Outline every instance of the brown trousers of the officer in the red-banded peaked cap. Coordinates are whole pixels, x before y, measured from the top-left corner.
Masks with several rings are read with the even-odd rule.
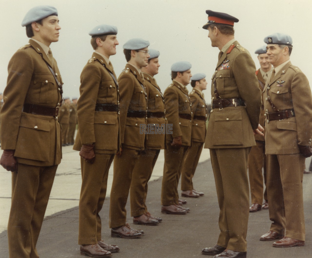
[[[248,148],[210,149],[220,207],[217,244],[233,251],[247,251],[249,184]]]

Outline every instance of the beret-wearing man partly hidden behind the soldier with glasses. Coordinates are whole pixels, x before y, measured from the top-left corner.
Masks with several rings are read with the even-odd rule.
[[[154,75],[158,74],[160,66],[158,62],[159,51],[149,49],[149,55],[148,65],[142,67],[141,71],[144,76],[144,85],[148,90],[147,124],[148,126],[153,125],[153,127],[152,132],[147,135],[147,149],[139,156],[132,172],[130,204],[134,224],[157,225],[162,221],[162,218],[154,217],[148,212],[145,200],[147,182],[152,175],[159,151],[165,146],[164,132],[159,133],[155,128],[156,124],[159,128],[165,125],[165,101],[154,78]]]

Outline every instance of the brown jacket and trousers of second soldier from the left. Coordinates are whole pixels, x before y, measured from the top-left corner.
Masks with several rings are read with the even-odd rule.
[[[73,149],[80,151],[82,144],[95,143],[95,161],[91,164],[80,158],[79,245],[97,244],[102,239],[99,212],[106,196],[110,165],[119,151],[118,110],[105,110],[107,105],[118,107],[119,89],[110,75],[111,72],[115,76],[111,63],[103,59],[94,52],[80,75],[79,130]],[[98,111],[101,105],[104,111]]]

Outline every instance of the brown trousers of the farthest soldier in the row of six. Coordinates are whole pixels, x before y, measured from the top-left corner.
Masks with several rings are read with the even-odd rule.
[[[183,161],[183,167],[181,172],[181,190],[193,190],[192,178],[195,174],[195,170],[202,153],[203,142],[192,141],[192,146],[188,148]]]

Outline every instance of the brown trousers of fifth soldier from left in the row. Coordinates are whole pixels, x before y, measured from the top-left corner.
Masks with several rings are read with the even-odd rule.
[[[162,205],[168,206],[179,203],[178,183],[187,150],[188,146],[181,146],[179,149],[176,149],[170,143],[167,143],[167,149],[164,151],[165,162],[161,188]]]

